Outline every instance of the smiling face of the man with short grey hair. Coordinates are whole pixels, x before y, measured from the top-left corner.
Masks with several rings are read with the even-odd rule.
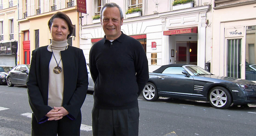
[[[120,17],[120,12],[117,7],[105,7],[102,12],[101,25],[106,35],[106,39],[115,40],[121,33],[123,18]]]

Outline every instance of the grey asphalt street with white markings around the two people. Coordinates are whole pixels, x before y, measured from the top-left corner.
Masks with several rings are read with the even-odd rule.
[[[255,136],[256,106],[215,109],[207,102],[138,98],[140,136]],[[93,95],[88,92],[81,108],[81,136],[91,136]],[[27,88],[0,86],[0,136],[31,135],[31,108]]]

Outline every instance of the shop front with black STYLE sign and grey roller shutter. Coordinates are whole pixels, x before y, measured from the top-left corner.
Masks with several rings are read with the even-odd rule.
[[[0,65],[17,65],[17,41],[0,43]]]

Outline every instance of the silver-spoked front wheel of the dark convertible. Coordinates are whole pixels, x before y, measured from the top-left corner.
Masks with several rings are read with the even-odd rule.
[[[226,88],[214,87],[209,93],[209,101],[214,108],[225,109],[232,104],[232,97]]]

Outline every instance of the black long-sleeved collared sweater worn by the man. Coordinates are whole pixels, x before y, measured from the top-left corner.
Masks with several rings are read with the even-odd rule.
[[[138,97],[149,78],[146,53],[138,40],[122,33],[111,43],[104,36],[91,47],[89,63],[95,107],[138,106]]]

